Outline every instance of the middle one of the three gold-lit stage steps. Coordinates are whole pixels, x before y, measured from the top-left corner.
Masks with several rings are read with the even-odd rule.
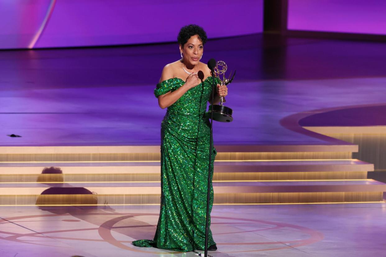
[[[45,167],[60,174],[41,174]],[[366,179],[359,160],[215,161],[213,181]],[[160,181],[160,162],[0,163],[0,182]]]

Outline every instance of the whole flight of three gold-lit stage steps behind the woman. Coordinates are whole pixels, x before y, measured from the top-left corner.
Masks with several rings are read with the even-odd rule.
[[[383,200],[386,185],[367,179],[374,165],[351,159],[351,145],[305,146],[303,152],[299,146],[288,152],[269,147],[262,152],[217,148],[226,152],[218,152],[215,161],[215,204]],[[60,147],[56,152],[35,148],[37,153],[20,149],[0,148],[0,205],[159,204],[159,146],[147,152],[130,147],[123,153],[122,148],[115,149],[120,153],[114,148],[72,148],[75,153]]]

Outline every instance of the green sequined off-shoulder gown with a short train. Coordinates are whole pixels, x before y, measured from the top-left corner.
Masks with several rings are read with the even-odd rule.
[[[184,83],[179,78],[162,81],[154,94],[158,97]],[[161,210],[156,234],[153,240],[137,240],[133,245],[180,252],[204,249],[210,147],[210,123],[204,114],[211,92],[212,77],[208,77],[168,107],[161,123]],[[213,148],[209,212],[216,153]],[[209,247],[215,242],[210,230],[208,235]]]

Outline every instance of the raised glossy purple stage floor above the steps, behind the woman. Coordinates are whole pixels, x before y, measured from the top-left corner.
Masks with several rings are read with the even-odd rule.
[[[215,144],[331,144],[281,120],[384,103],[385,53],[381,43],[261,34],[209,41],[203,62],[213,57],[237,70],[226,103],[234,122],[215,123]],[[0,146],[159,145],[166,110],[153,89],[178,58],[176,44],[3,51]]]

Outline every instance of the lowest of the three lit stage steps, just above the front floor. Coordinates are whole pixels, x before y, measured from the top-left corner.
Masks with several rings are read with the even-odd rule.
[[[160,186],[160,182],[9,183],[0,184],[0,201],[2,205],[159,204]],[[374,180],[213,182],[217,204],[375,202],[385,188]]]

